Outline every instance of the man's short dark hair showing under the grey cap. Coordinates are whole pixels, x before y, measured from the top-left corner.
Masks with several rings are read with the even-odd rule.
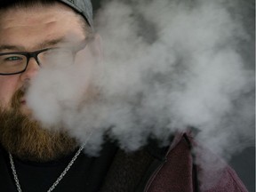
[[[60,3],[60,1],[57,0],[0,0],[0,12],[12,8],[28,8],[35,5],[51,6],[52,4],[56,4],[58,2]],[[72,10],[76,13],[76,16],[81,21],[82,27],[84,28],[84,32],[87,34],[87,36],[92,36],[92,27],[89,25],[88,21],[85,20],[80,13],[76,12],[74,9]]]

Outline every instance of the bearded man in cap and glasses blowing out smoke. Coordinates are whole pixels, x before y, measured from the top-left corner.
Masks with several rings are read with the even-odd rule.
[[[193,162],[188,133],[177,134],[171,146],[157,148],[153,143],[132,154],[106,142],[100,156],[91,157],[67,132],[49,131],[31,117],[25,95],[47,55],[65,49],[68,57],[76,58],[78,52],[88,52],[81,46],[88,39],[100,55],[89,0],[1,2],[0,190],[206,191],[197,180],[200,169]],[[207,191],[247,190],[227,166]]]

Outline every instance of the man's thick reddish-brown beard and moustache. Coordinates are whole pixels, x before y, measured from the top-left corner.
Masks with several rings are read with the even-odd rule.
[[[76,140],[67,132],[45,129],[20,111],[22,89],[15,92],[11,108],[0,109],[0,143],[20,159],[47,162],[68,155],[77,147]]]

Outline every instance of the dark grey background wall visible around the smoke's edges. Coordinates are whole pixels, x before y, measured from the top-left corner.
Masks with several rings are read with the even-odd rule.
[[[92,0],[94,12],[100,8],[101,0]],[[242,2],[243,1],[243,2]],[[250,31],[251,35],[255,36],[255,2],[254,0],[241,0],[243,4],[242,12],[244,14],[245,26]],[[255,63],[255,45],[254,41],[252,44],[248,44],[247,55],[248,60],[252,63],[254,68]],[[252,111],[253,112],[253,111]],[[255,124],[253,125],[255,127]],[[255,132],[254,132],[255,135]],[[249,192],[255,191],[255,146],[245,148],[241,153],[236,154],[232,157],[229,164],[236,170],[238,176],[243,180],[244,185]]]

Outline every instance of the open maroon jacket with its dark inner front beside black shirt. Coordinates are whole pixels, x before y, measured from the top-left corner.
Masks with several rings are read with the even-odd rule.
[[[193,156],[193,139],[179,133],[169,148],[156,144],[141,151],[118,152],[108,172],[102,192],[246,192],[247,189],[228,164],[215,157],[222,169],[204,170],[196,165],[200,154]],[[202,150],[205,153],[209,151]],[[201,151],[201,152],[202,152]],[[217,162],[218,161],[218,162]]]

